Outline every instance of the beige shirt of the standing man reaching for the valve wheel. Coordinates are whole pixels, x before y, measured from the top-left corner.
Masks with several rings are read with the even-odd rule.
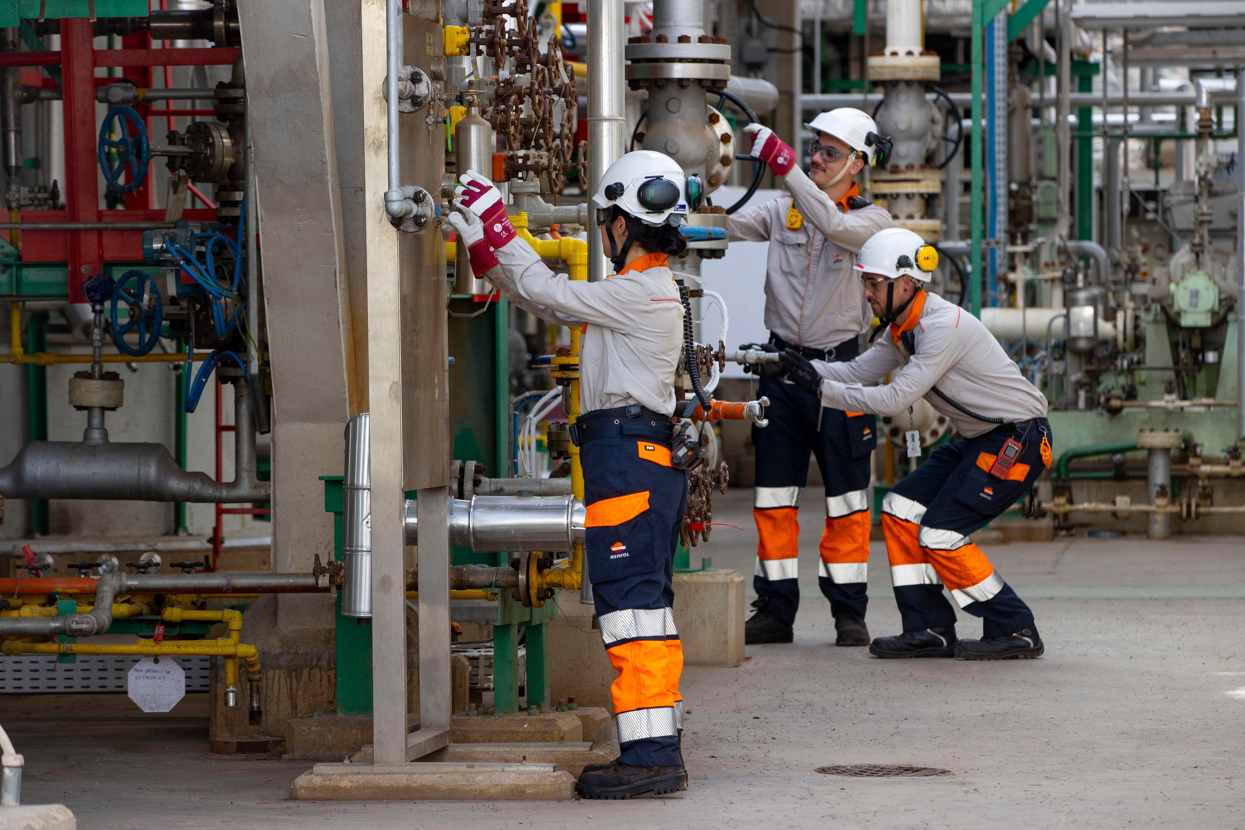
[[[731,239],[769,243],[766,327],[789,343],[830,348],[869,329],[873,312],[852,263],[865,240],[890,228],[890,214],[876,204],[850,209],[855,187],[830,202],[798,167],[786,182],[791,195],[731,217]],[[799,228],[788,226],[793,204]]]

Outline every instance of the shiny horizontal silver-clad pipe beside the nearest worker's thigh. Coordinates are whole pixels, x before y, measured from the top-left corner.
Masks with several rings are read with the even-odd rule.
[[[406,503],[406,544],[418,544],[416,500]],[[449,544],[477,553],[570,551],[584,541],[588,511],[569,495],[476,495],[449,499]]]

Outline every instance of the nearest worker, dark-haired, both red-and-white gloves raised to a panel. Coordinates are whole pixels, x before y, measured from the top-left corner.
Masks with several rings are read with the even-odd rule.
[[[593,600],[618,671],[611,692],[621,754],[585,768],[576,790],[627,798],[686,789],[679,740],[684,653],[671,604],[691,457],[671,418],[684,305],[666,265],[687,248],[680,233],[693,202],[686,178],[670,157],[649,151],[609,167],[593,203],[615,274],[600,282],[554,274],[515,239],[500,192],[473,170],[461,180],[456,204],[464,213],[448,220],[468,246],[473,273],[530,314],[584,327],[583,414],[570,432],[584,469]]]

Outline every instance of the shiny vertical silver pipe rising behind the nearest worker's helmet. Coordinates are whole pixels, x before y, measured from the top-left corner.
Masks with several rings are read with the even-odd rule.
[[[388,0],[393,2],[395,0]],[[622,77],[622,6],[618,0],[589,0],[588,19],[588,190],[626,148],[626,86]],[[588,281],[608,274],[601,235],[588,234]]]

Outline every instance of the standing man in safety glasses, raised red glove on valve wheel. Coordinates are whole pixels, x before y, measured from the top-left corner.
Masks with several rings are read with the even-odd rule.
[[[804,126],[815,136],[808,144],[808,174],[769,128],[745,127],[753,133],[752,154],[784,177],[791,195],[732,215],[731,239],[769,243],[764,315],[769,342],[761,347],[850,361],[873,317],[852,274],[852,256],[869,236],[890,226],[890,214],[859,195],[855,174],[865,164],[885,164],[889,142],[878,134],[873,118],[850,107],[823,112]],[[825,483],[818,584],[830,601],[835,643],[868,646],[868,490],[876,418],[824,408],[793,392],[777,376],[777,363],[754,371],[761,375],[758,392],[771,404],[769,426],[752,429],[757,612],[745,626],[745,641],[792,641],[799,607],[799,494],[812,450]]]

